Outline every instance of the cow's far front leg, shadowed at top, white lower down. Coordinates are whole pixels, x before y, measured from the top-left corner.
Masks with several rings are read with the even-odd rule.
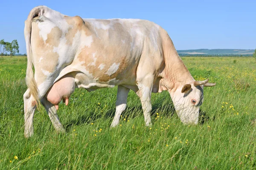
[[[117,89],[117,96],[116,96],[116,113],[111,124],[111,127],[116,127],[119,124],[119,119],[123,111],[125,111],[126,103],[127,103],[127,96],[130,89],[119,85]]]

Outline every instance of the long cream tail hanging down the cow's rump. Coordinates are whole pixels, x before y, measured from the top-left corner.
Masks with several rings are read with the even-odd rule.
[[[33,66],[34,66],[34,59],[32,56],[32,49],[31,49],[31,31],[32,31],[32,19],[35,16],[40,15],[40,12],[43,9],[43,6],[38,6],[33,8],[27,20],[25,21],[25,28],[24,28],[24,36],[26,40],[26,52],[27,52],[27,69],[26,69],[26,85],[29,88],[30,94],[34,97],[35,101],[38,103],[39,101],[39,94],[38,94],[38,88],[37,84],[35,82],[34,72],[33,72]]]

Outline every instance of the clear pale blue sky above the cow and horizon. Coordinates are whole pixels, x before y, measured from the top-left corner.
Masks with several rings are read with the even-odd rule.
[[[26,53],[24,21],[45,5],[82,18],[139,18],[162,26],[177,50],[256,48],[256,0],[0,0],[0,40]]]

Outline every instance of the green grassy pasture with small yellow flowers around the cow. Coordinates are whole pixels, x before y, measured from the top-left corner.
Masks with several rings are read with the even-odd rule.
[[[133,91],[120,125],[110,128],[117,88],[76,89],[57,134],[41,106],[34,136],[23,136],[26,57],[0,58],[0,169],[256,169],[256,62],[253,57],[182,57],[204,88],[200,125],[183,125],[169,94],[152,95],[144,126]]]

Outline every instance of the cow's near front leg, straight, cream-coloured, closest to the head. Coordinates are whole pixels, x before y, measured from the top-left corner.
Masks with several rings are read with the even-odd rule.
[[[137,82],[137,86],[139,90],[137,91],[137,95],[140,97],[144,120],[146,126],[151,126],[151,118],[150,113],[152,110],[151,106],[151,91],[153,87],[153,76],[145,76],[143,79]]]

